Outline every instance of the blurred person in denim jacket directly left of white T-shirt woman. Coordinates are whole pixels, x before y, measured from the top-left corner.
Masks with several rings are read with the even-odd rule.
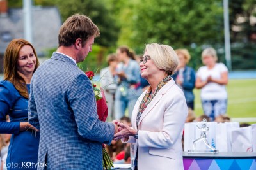
[[[188,108],[194,110],[195,95],[193,89],[195,88],[196,76],[194,69],[187,66],[191,56],[187,49],[177,49],[175,52],[179,57],[179,65],[172,77],[183,90]]]

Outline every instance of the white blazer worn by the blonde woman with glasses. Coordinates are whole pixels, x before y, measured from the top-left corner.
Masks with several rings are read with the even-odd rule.
[[[145,93],[132,112],[132,127],[136,130],[136,117]],[[172,78],[143,111],[138,139],[130,136],[128,141],[123,140],[135,143],[135,152],[138,148],[138,170],[184,169],[181,137],[187,115],[184,93]]]

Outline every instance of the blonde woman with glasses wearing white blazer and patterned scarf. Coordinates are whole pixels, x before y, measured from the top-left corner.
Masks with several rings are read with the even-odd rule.
[[[114,138],[135,143],[134,169],[184,169],[181,137],[188,107],[184,92],[172,78],[178,64],[171,46],[146,45],[140,67],[150,87],[134,106],[132,127],[116,122],[120,131]]]

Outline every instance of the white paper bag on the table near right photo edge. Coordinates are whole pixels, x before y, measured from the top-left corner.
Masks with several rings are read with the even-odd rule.
[[[253,152],[252,127],[241,127],[231,131],[232,152]]]

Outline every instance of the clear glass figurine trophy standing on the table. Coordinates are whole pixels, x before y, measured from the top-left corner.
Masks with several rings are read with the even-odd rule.
[[[202,122],[203,122],[202,127],[199,127],[198,125],[196,125],[196,128],[201,131],[200,137],[195,141],[193,141],[193,150],[188,150],[188,153],[218,153],[218,150],[216,150],[214,147],[209,145],[207,141],[206,134],[207,134],[207,131],[209,131],[209,127],[207,127],[206,125],[207,120],[204,118]],[[199,142],[202,143],[201,141],[204,142],[204,145],[206,146],[207,149],[196,150],[196,144],[198,145]]]

